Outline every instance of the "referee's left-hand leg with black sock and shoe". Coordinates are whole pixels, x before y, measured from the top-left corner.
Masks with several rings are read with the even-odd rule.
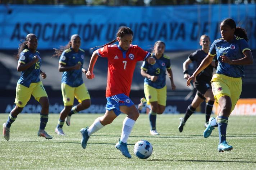
[[[200,106],[200,104],[204,101],[203,96],[197,91],[195,98],[193,99],[191,105],[188,106],[184,117],[179,118],[179,132],[183,131],[183,127],[185,123],[187,122],[188,118],[195,112],[196,108]]]

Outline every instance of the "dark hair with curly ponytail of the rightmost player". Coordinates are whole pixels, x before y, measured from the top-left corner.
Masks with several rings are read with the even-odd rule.
[[[228,26],[230,26],[231,29],[235,28],[234,34],[237,37],[241,37],[241,38],[245,39],[248,42],[249,39],[247,37],[246,30],[241,28],[241,27],[237,27],[236,22],[233,19],[227,18],[227,19],[223,20],[222,23],[227,24]]]

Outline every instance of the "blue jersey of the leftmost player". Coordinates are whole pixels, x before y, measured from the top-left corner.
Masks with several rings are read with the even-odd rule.
[[[31,83],[40,82],[39,77],[42,60],[40,58],[40,53],[38,51],[32,53],[30,50],[24,49],[19,55],[18,62],[22,64],[27,64],[31,62],[31,60],[33,60],[35,55],[39,57],[39,60],[28,69],[21,72],[18,84],[22,84],[23,86],[29,87]]]

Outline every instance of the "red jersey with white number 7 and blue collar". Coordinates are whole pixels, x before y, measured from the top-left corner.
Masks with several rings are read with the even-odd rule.
[[[97,53],[100,57],[108,58],[106,97],[121,93],[129,96],[136,63],[145,60],[150,53],[132,44],[127,51],[117,44],[105,45],[98,49]]]

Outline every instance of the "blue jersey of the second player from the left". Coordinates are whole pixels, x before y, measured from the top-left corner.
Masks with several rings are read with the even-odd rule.
[[[83,84],[82,79],[82,66],[84,62],[84,50],[79,49],[78,52],[74,52],[72,48],[64,50],[61,54],[59,63],[64,64],[65,66],[74,66],[77,63],[82,64],[79,70],[72,70],[63,72],[61,83],[68,84],[71,87],[78,87]]]

